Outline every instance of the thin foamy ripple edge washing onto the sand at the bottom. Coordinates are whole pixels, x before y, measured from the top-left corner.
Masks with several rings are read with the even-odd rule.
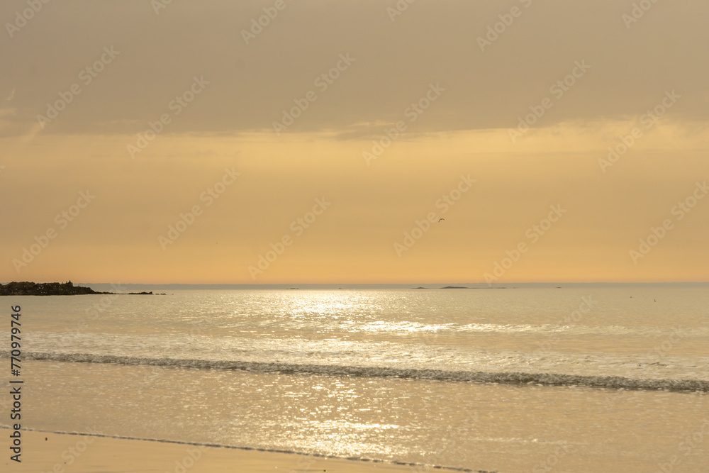
[[[9,429],[9,425],[0,424],[0,429]],[[201,442],[188,442],[185,440],[167,440],[158,438],[141,438],[141,437],[130,437],[127,435],[108,435],[104,433],[82,433],[82,432],[64,432],[62,430],[41,430],[35,428],[23,428],[22,430],[27,430],[28,432],[41,432],[41,433],[55,433],[57,435],[81,435],[86,437],[96,437],[96,438],[114,438],[117,440],[141,440],[143,442],[158,442],[158,443],[172,443],[177,445],[191,445],[194,447],[213,447],[213,448],[230,448],[233,450],[252,450],[255,452],[269,452],[269,453],[287,453],[290,455],[307,455],[308,457],[322,457],[322,458],[334,458],[337,460],[350,460],[355,462],[372,462],[372,463],[390,463],[396,465],[403,465],[408,467],[417,467],[420,471],[428,471],[428,469],[445,469],[454,472],[471,472],[471,473],[498,473],[497,470],[484,470],[484,469],[470,469],[462,467],[444,467],[442,465],[432,465],[424,463],[413,463],[413,462],[399,462],[396,460],[377,460],[374,458],[367,457],[333,457],[332,455],[323,455],[320,453],[307,453],[307,452],[296,452],[295,450],[279,450],[274,448],[259,448],[259,447],[239,447],[237,445],[224,445],[220,443],[201,443]]]

